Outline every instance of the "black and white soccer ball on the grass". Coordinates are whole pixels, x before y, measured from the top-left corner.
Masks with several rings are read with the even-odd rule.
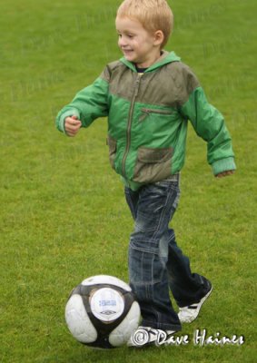
[[[132,289],[113,276],[84,280],[72,291],[65,320],[75,339],[93,348],[125,344],[138,328],[140,308]]]

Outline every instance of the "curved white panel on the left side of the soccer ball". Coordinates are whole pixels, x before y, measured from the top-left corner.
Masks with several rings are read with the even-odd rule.
[[[96,340],[97,331],[84,309],[83,299],[80,295],[74,294],[68,300],[65,308],[65,320],[70,332],[78,341],[93,343]]]

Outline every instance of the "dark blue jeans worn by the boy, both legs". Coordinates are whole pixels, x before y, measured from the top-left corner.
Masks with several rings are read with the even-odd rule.
[[[129,246],[130,284],[145,327],[181,329],[170,290],[179,307],[197,302],[206,294],[207,280],[192,273],[189,259],[169,228],[179,196],[179,175],[144,185],[138,191],[125,187],[134,220]]]

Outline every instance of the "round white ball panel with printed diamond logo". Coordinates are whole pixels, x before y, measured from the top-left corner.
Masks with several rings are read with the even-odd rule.
[[[111,288],[96,290],[91,296],[90,305],[95,318],[104,322],[111,322],[124,312],[123,296]]]

